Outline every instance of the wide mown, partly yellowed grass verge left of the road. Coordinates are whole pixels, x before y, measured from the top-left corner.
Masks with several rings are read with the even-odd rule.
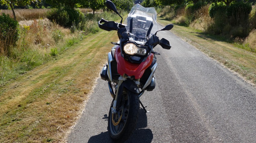
[[[63,142],[117,40],[116,31],[86,36],[0,87],[0,142]]]

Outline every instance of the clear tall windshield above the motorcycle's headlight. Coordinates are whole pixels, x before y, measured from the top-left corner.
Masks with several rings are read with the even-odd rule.
[[[130,33],[130,40],[144,45],[148,36],[158,30],[156,23],[157,13],[154,7],[145,8],[136,4],[125,19],[126,30]]]

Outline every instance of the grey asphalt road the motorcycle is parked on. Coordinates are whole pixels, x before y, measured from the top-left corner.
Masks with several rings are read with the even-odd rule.
[[[255,87],[170,31],[158,36],[169,40],[172,48],[155,48],[161,53],[157,85],[140,98],[150,113],[140,109],[127,142],[256,142]],[[107,132],[112,97],[107,82],[97,82],[69,143],[112,142]]]

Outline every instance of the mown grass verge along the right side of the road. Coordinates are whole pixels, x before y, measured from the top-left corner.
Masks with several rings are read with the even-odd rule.
[[[171,22],[158,17],[162,25]],[[175,23],[174,21],[172,21]],[[221,36],[203,34],[201,31],[191,27],[174,25],[171,30],[180,36],[184,41],[190,43],[208,57],[217,60],[232,72],[237,73],[248,83],[256,84],[256,53],[247,51],[237,44],[223,41]]]

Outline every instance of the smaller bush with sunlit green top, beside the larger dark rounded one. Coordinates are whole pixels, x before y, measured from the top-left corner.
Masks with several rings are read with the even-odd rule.
[[[226,4],[224,2],[212,3],[209,7],[209,15],[211,18],[214,18],[217,14],[225,15],[226,13]]]

